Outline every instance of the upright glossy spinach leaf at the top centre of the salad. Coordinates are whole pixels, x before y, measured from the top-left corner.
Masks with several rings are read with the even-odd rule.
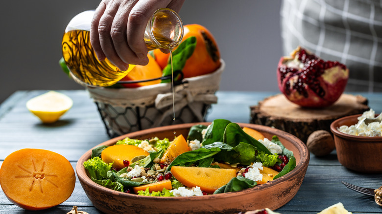
[[[215,142],[224,142],[223,135],[224,130],[231,121],[225,119],[216,119],[207,128],[206,135],[202,141],[203,145],[212,144]]]

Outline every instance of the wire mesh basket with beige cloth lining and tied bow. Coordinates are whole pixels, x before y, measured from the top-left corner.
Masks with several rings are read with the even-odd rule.
[[[204,122],[211,104],[217,103],[215,92],[224,68],[221,60],[221,66],[213,73],[184,78],[174,86],[174,94],[171,83],[118,89],[86,86],[86,89],[107,134],[116,137],[146,128]]]

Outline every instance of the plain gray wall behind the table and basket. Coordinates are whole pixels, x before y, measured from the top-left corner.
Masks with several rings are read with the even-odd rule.
[[[83,89],[61,70],[61,39],[76,14],[99,0],[1,2],[0,103],[17,90]],[[186,0],[179,15],[214,35],[226,63],[220,90],[279,91],[281,0]]]

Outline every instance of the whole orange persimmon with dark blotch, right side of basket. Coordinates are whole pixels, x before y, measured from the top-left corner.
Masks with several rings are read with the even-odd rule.
[[[196,37],[196,47],[182,70],[185,78],[212,73],[221,64],[215,38],[206,27],[200,24],[184,25],[182,42],[192,36]],[[154,50],[154,57],[162,69],[168,64],[169,54],[160,49]]]

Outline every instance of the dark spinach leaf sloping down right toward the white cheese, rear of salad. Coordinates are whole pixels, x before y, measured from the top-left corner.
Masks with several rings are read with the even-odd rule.
[[[264,151],[266,154],[272,154],[262,143],[251,137],[249,134],[245,133],[238,124],[228,124],[224,130],[223,143],[235,147],[240,142],[250,144],[256,147],[257,150]]]

